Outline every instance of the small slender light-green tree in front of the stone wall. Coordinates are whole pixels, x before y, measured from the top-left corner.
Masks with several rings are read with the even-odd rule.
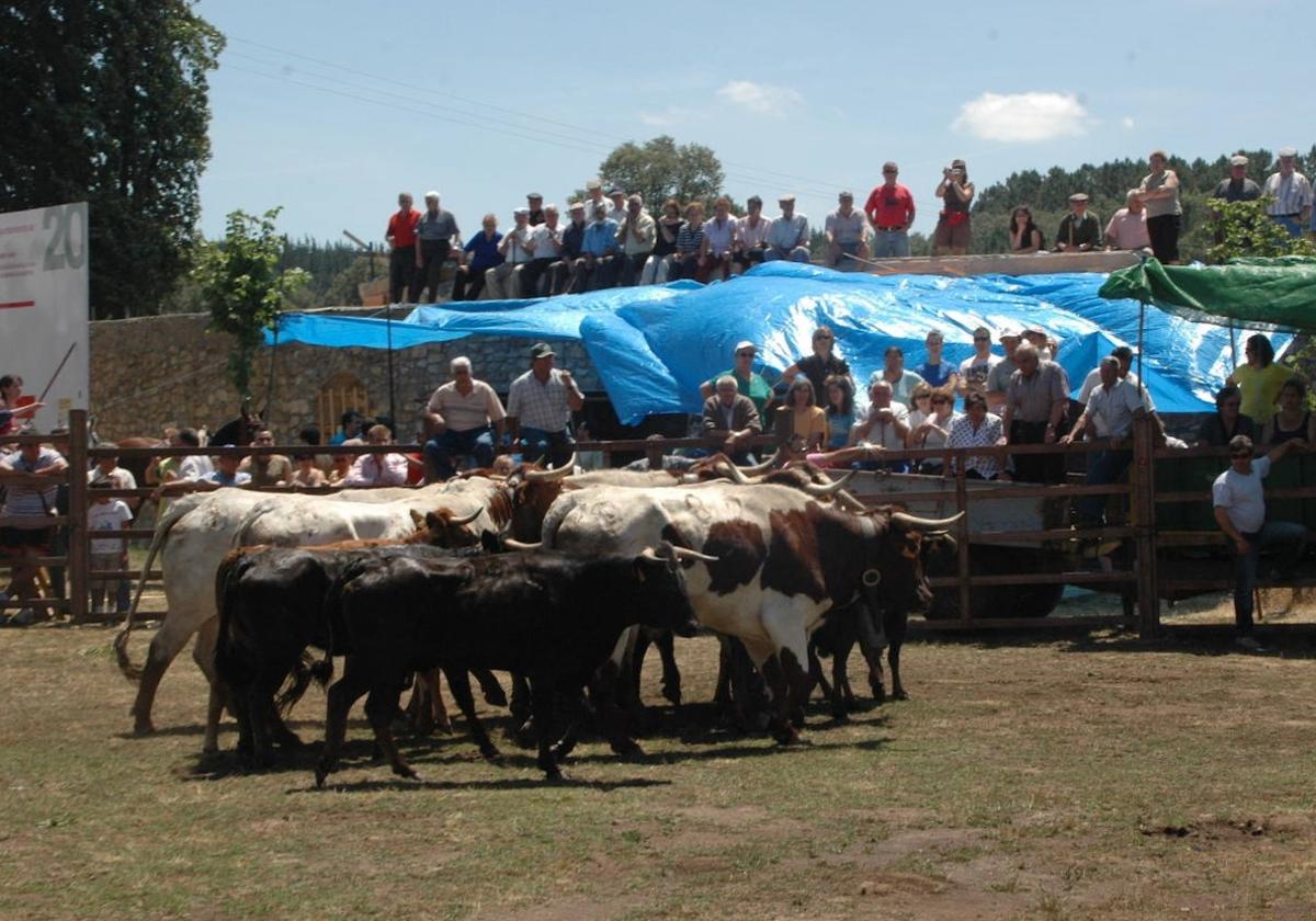
[[[243,399],[251,395],[251,364],[265,330],[274,326],[286,299],[308,280],[301,268],[279,270],[284,243],[274,229],[279,211],[261,217],[232,212],[224,242],[203,246],[193,272],[211,313],[211,330],[233,337],[229,379]]]

